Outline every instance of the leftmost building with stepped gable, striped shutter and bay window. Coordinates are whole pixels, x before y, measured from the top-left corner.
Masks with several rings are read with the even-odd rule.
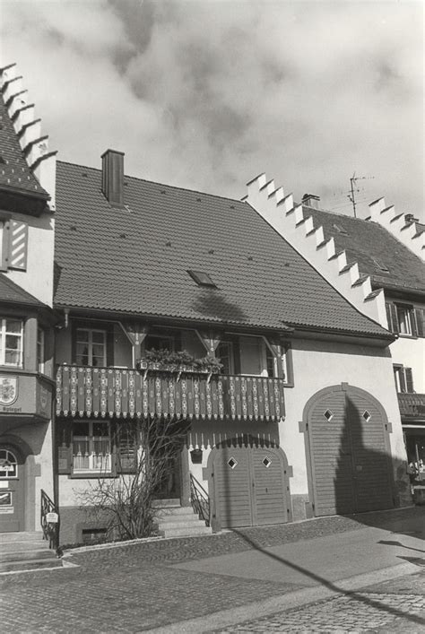
[[[0,531],[35,531],[53,497],[55,155],[14,66],[0,77]]]

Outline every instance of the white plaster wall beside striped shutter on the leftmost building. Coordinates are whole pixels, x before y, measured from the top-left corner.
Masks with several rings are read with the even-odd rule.
[[[49,214],[31,218],[22,213],[14,213],[13,220],[28,224],[27,270],[9,270],[7,277],[38,300],[52,306],[55,221]]]

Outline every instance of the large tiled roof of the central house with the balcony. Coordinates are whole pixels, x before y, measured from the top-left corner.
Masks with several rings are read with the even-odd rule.
[[[56,306],[265,328],[387,335],[246,203],[125,178],[126,208],[99,169],[57,162]],[[209,274],[198,286],[187,270]]]

